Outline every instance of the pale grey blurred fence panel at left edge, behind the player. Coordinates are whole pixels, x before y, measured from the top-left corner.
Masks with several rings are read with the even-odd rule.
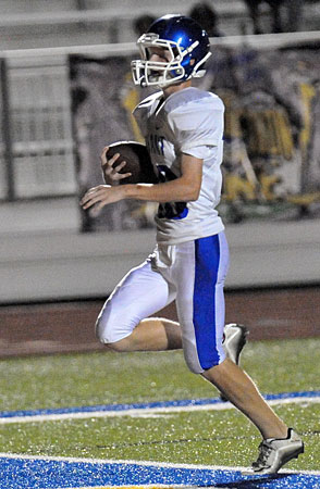
[[[3,71],[7,110],[1,133],[7,151],[1,164],[1,197],[14,200],[74,193],[65,60],[9,55],[2,61]]]

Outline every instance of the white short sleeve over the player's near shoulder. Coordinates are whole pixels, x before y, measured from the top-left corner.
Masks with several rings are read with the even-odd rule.
[[[193,101],[173,110],[168,120],[179,150],[187,153],[194,148],[217,147],[222,140],[223,114],[219,98]]]

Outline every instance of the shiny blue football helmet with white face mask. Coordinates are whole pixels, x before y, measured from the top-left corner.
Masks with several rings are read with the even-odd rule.
[[[211,55],[206,30],[184,15],[164,15],[155,21],[137,41],[140,60],[132,62],[135,85],[168,87],[205,75],[204,63]],[[150,48],[168,51],[168,62],[150,60]],[[200,70],[201,67],[201,70]]]

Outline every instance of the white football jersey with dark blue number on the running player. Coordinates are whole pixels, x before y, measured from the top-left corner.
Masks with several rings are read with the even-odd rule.
[[[224,229],[216,210],[222,185],[223,114],[223,102],[218,96],[194,87],[167,99],[162,91],[153,93],[134,110],[159,181],[181,176],[182,153],[204,160],[199,198],[194,202],[159,204],[159,243],[177,244]]]

